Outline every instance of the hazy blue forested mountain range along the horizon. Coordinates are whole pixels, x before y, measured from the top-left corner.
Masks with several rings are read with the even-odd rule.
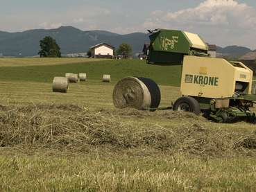
[[[114,47],[126,42],[133,46],[133,53],[142,51],[144,43],[149,42],[146,33],[130,33],[119,35],[105,30],[83,31],[72,26],[62,26],[56,29],[35,29],[24,32],[8,33],[0,31],[0,55],[5,56],[34,56],[39,51],[39,41],[45,36],[56,39],[62,54],[85,53],[90,46],[105,42]],[[239,57],[251,51],[243,46],[217,47],[222,55]]]

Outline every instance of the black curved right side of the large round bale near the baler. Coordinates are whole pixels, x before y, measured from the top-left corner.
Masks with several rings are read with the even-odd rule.
[[[146,87],[148,88],[148,91],[151,94],[151,108],[157,108],[160,105],[161,102],[161,91],[157,85],[157,83],[150,78],[138,78],[141,80]]]

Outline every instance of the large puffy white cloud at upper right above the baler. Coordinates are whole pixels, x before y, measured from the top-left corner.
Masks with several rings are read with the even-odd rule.
[[[196,8],[178,10],[177,12],[154,11],[151,15],[155,18],[145,22],[164,24],[168,26],[176,24],[186,26],[224,26],[226,28],[256,28],[256,10],[246,3],[238,3],[234,0],[207,0]],[[157,22],[159,23],[157,23]],[[171,23],[170,23],[171,22]]]

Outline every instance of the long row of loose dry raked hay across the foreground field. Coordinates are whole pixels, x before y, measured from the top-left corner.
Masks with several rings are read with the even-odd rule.
[[[187,123],[161,126],[135,122],[157,117]],[[201,117],[180,112],[89,111],[77,105],[0,106],[0,147],[75,152],[99,147],[211,157],[255,153],[255,132],[241,135],[208,125]]]

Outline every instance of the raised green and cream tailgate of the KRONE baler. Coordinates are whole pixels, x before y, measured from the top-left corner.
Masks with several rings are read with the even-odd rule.
[[[160,29],[150,35],[150,40],[150,64],[182,64],[184,55],[209,56],[207,44],[194,33]]]

